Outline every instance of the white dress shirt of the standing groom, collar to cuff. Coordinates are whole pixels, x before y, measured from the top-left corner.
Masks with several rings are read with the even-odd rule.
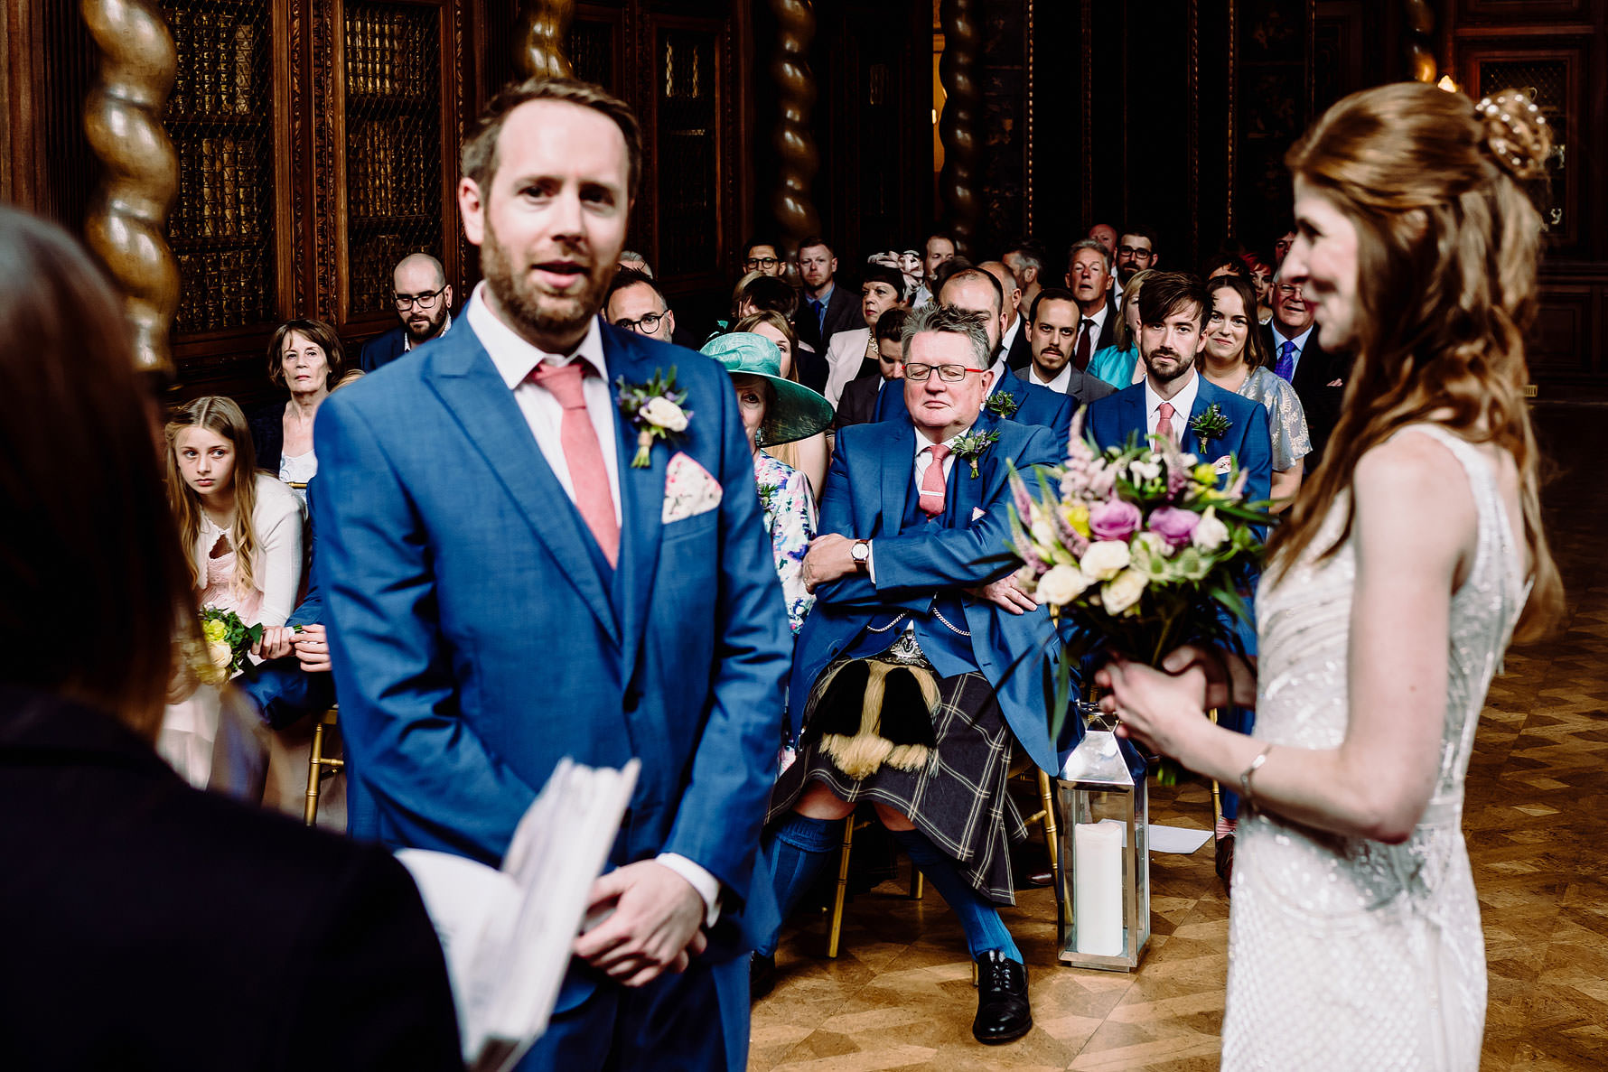
[[[558,477],[571,503],[576,501],[576,484],[569,476],[569,463],[564,461],[564,407],[558,403],[553,392],[531,381],[531,371],[540,362],[560,366],[569,362],[585,362],[597,371],[597,376],[584,376],[580,379],[580,391],[587,400],[587,416],[592,418],[598,445],[603,448],[603,468],[608,469],[608,490],[614,500],[614,521],[616,524],[624,524],[619,501],[614,392],[609,389],[608,365],[603,362],[603,331],[598,328],[598,318],[592,318],[587,334],[580,339],[580,346],[576,347],[574,354],[545,354],[521,339],[513,328],[492,312],[490,305],[486,304],[484,283],[474,288],[465,317],[468,317],[470,328],[490,355],[492,365],[497,366],[497,374],[513,391],[515,402],[519,403],[519,411],[524,413],[526,424],[531,426],[531,434],[535,437],[535,445],[542,452],[542,458],[547,460],[548,468]],[[659,853],[654,861],[675,871],[698,890],[698,897],[704,903],[704,926],[714,926],[714,921],[720,918],[720,881],[709,874],[708,868],[672,852]]]

